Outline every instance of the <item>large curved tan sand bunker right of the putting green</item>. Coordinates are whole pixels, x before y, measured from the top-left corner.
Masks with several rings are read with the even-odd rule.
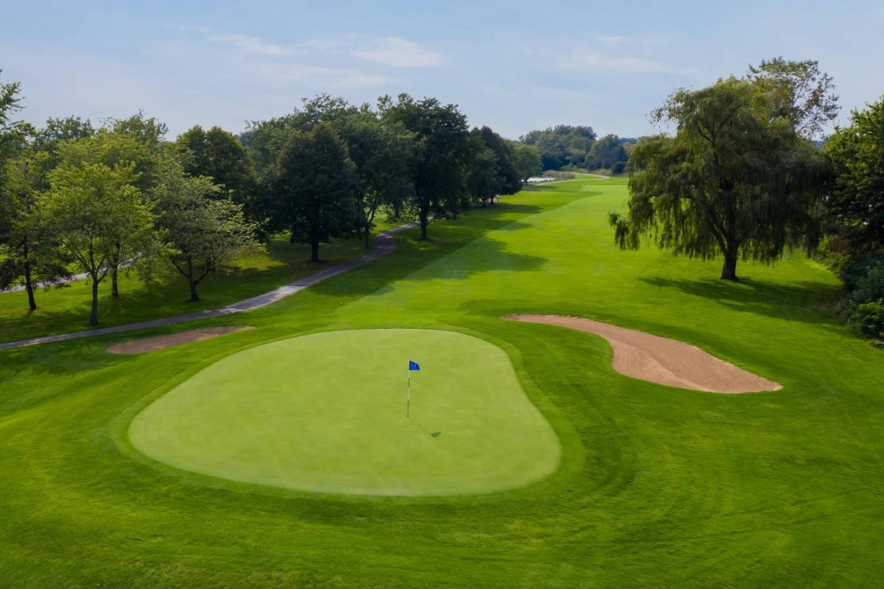
[[[757,393],[782,388],[773,380],[737,368],[696,346],[659,335],[583,317],[509,315],[505,318],[560,325],[600,335],[613,348],[613,369],[635,379],[709,393]]]

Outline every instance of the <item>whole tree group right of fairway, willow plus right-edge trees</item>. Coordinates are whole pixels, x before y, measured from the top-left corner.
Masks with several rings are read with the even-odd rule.
[[[804,249],[843,279],[851,328],[884,346],[884,102],[819,142],[837,101],[818,62],[783,57],[677,90],[652,112],[674,133],[631,150],[627,211],[610,215],[614,241],[720,256],[728,280],[740,260],[772,264]]]

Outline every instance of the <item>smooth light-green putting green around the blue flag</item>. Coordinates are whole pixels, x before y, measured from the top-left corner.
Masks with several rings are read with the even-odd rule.
[[[406,417],[408,360],[411,377]],[[141,411],[134,447],[179,469],[323,493],[453,495],[556,470],[507,354],[462,333],[316,333],[227,356]]]

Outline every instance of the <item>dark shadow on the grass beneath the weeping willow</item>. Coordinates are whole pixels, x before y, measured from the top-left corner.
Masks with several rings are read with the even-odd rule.
[[[840,330],[832,310],[839,288],[826,282],[801,280],[789,284],[743,278],[719,279],[640,278],[652,287],[674,288],[686,295],[713,299],[728,309],[790,321],[831,324]]]

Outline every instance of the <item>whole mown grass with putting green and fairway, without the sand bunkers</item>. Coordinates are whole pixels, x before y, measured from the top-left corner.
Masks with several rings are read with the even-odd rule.
[[[0,351],[0,581],[868,586],[884,371],[827,310],[837,280],[797,253],[729,283],[618,251],[626,197],[530,187],[262,309],[132,336],[254,327],[210,340]],[[782,389],[633,379],[604,338],[516,313],[683,341]]]

